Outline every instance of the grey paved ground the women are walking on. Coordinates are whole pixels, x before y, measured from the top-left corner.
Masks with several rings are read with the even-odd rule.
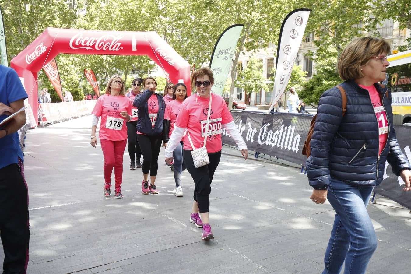
[[[194,183],[185,171],[184,197],[174,196],[164,149],[158,195],[141,193],[141,169],[128,169],[126,148],[124,198],[103,196],[102,150],[90,146],[90,123],[82,117],[27,134],[28,273],[321,273],[334,212],[309,200],[299,169],[253,155],[245,161],[224,146],[210,196],[215,239],[205,242],[189,223]],[[379,245],[367,273],[410,273],[409,210],[385,198],[368,210]]]

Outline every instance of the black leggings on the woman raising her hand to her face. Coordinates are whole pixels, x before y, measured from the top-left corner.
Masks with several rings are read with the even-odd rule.
[[[157,176],[158,169],[158,154],[160,153],[162,137],[147,136],[144,134],[137,134],[137,141],[139,142],[141,152],[143,152],[143,173],[150,173],[150,176]]]

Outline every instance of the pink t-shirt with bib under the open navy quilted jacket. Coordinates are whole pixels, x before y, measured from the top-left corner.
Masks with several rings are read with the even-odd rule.
[[[372,106],[374,107],[374,112],[377,117],[377,122],[378,122],[378,134],[379,134],[379,150],[378,150],[378,156],[381,154],[383,151],[387,139],[388,139],[388,131],[389,125],[388,125],[388,117],[385,111],[385,108],[382,104],[380,95],[378,91],[376,90],[374,85],[370,86],[365,86],[365,85],[359,85],[362,88],[365,88],[369,92],[369,97],[371,97],[371,102]]]

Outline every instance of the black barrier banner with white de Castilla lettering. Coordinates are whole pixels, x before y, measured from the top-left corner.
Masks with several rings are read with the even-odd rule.
[[[251,111],[232,111],[234,122],[249,150],[278,157],[305,166],[307,157],[301,154],[302,147],[312,115],[278,113],[264,115]],[[397,140],[402,151],[411,160],[411,127],[394,126]],[[236,145],[224,130],[222,142]],[[404,182],[401,177],[393,174],[386,162],[386,173],[383,182],[374,189],[374,192],[411,209],[411,191],[402,190]]]

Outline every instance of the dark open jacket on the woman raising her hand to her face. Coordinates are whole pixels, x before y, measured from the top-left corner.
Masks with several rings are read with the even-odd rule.
[[[166,109],[166,103],[164,103],[163,97],[155,93],[157,96],[159,108],[157,113],[156,122],[154,128],[151,125],[150,116],[148,115],[148,104],[147,101],[151,97],[152,92],[150,90],[144,90],[136,96],[133,102],[133,106],[138,108],[137,115],[139,119],[137,120],[136,128],[139,132],[147,134],[148,136],[158,136],[163,133],[163,121],[164,121],[164,111]]]

